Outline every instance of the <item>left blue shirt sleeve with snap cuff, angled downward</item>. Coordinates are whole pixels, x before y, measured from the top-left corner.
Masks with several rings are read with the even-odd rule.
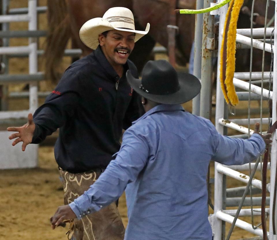
[[[69,204],[77,218],[98,211],[117,200],[126,185],[134,181],[144,168],[148,156],[149,147],[145,136],[134,128],[128,129],[123,135],[115,160],[110,162],[89,190]]]

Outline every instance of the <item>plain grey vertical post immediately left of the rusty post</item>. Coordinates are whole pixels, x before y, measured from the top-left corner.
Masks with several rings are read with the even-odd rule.
[[[204,7],[203,0],[196,0],[196,9]],[[193,75],[201,80],[203,14],[195,14]],[[200,115],[200,93],[192,100],[192,114]]]

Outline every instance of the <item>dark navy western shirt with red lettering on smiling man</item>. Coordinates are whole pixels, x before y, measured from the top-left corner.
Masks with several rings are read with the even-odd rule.
[[[55,159],[63,170],[80,173],[106,167],[120,148],[122,128],[143,114],[138,94],[127,83],[128,69],[138,78],[130,60],[119,78],[100,47],[70,65],[34,113],[32,143],[59,128]]]

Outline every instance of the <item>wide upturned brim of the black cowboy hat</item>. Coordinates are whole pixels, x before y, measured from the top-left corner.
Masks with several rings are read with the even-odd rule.
[[[201,90],[201,83],[198,78],[189,73],[178,73],[179,91],[168,95],[151,94],[140,89],[141,80],[134,78],[130,70],[126,77],[130,86],[141,96],[162,104],[181,104],[194,98]]]

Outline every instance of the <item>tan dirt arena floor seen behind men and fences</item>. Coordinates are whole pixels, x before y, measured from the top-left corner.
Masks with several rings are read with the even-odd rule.
[[[39,1],[39,4],[46,5],[46,0]],[[27,7],[27,0],[10,0],[10,8]],[[10,29],[23,30],[27,29],[26,23],[11,23]],[[39,16],[39,29],[47,29],[46,14]],[[40,48],[43,48],[44,39],[39,42]],[[11,39],[11,46],[27,45],[27,39]],[[164,56],[156,56],[162,58]],[[70,63],[69,58],[65,58],[63,66]],[[28,73],[27,58],[10,59],[10,73]],[[39,59],[39,71],[43,71],[43,59]],[[9,86],[9,91],[22,91],[25,84]],[[40,91],[50,91],[51,87],[42,81],[39,84]],[[40,99],[42,104],[44,99]],[[267,108],[267,103],[263,103]],[[191,102],[184,105],[186,110],[191,112]],[[258,108],[259,104],[253,103],[252,108]],[[26,99],[9,100],[9,110],[22,110],[28,108]],[[237,112],[247,108],[247,103],[242,102],[237,107]],[[213,112],[215,108],[213,107]],[[247,117],[247,116],[244,116]],[[251,116],[259,117],[259,115]],[[265,117],[267,115],[265,114]],[[239,134],[239,133],[236,133]],[[8,141],[8,139],[7,139]],[[22,153],[24,154],[24,153]],[[213,177],[213,163],[211,164],[211,177]],[[248,175],[248,173],[246,172]],[[57,164],[54,159],[53,146],[40,146],[38,154],[38,167],[35,169],[14,169],[0,170],[0,240],[45,240],[45,239],[67,239],[66,228],[58,227],[52,230],[50,227],[50,217],[55,213],[57,207],[63,204],[63,189],[58,178]],[[256,178],[260,179],[260,173],[257,172]],[[227,179],[227,186],[237,187],[242,184],[238,181]],[[213,188],[213,185],[212,185]],[[213,196],[213,192],[212,192]],[[258,195],[257,195],[258,196]],[[212,197],[212,202],[214,202]],[[125,196],[119,200],[119,211],[125,226],[127,226],[127,208]],[[209,208],[212,213],[212,209]],[[250,218],[241,218],[250,221]],[[259,217],[255,217],[255,224],[259,223]],[[228,230],[230,224],[227,224]],[[226,232],[227,232],[226,230]],[[239,228],[235,228],[231,239],[242,239],[254,237]],[[146,240],[146,239],[145,239]]]

